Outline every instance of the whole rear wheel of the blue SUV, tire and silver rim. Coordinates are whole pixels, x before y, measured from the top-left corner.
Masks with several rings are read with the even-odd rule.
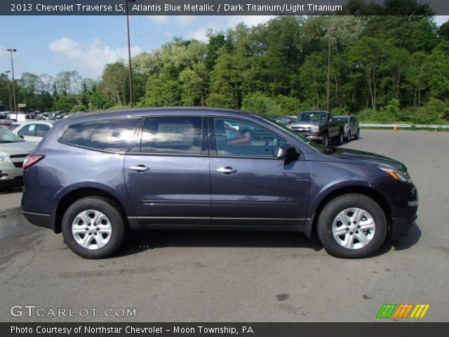
[[[103,197],[74,202],[62,218],[65,243],[82,258],[107,258],[119,249],[125,220],[119,207]]]

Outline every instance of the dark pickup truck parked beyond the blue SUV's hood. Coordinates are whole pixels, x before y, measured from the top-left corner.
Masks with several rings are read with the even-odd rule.
[[[288,127],[324,146],[329,145],[330,139],[335,139],[337,145],[343,143],[344,122],[335,121],[328,111],[301,112]]]

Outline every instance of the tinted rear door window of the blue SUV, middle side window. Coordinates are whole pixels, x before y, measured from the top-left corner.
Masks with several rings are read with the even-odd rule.
[[[150,117],[133,152],[201,154],[202,117]]]

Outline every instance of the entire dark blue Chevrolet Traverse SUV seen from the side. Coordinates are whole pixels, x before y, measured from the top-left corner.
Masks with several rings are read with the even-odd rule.
[[[253,126],[264,138],[239,131]],[[406,166],[323,147],[234,110],[147,108],[71,117],[24,161],[22,211],[83,258],[126,230],[316,230],[333,256],[363,258],[416,218]]]

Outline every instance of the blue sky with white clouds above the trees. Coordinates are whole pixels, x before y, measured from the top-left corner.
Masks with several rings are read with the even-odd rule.
[[[272,16],[130,16],[131,55],[159,48],[173,37],[206,41],[208,29],[225,31],[239,22],[257,25]],[[449,15],[436,16],[438,25]],[[128,58],[125,16],[3,16],[0,71],[11,70],[7,48],[16,48],[15,77],[23,72],[55,75],[77,70],[95,79],[107,63]]]

